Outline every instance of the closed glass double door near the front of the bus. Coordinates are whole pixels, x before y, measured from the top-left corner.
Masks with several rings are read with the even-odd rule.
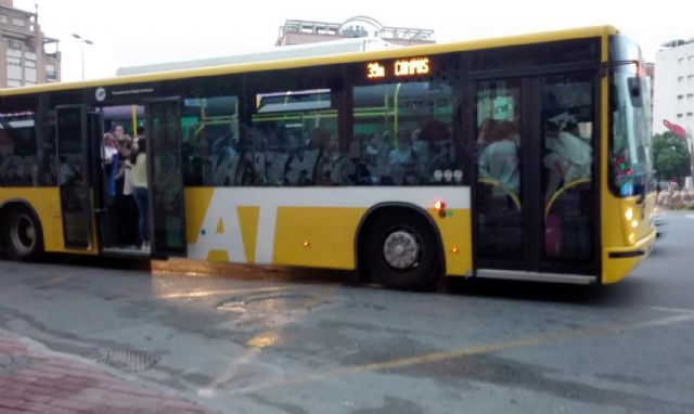
[[[475,83],[477,269],[595,273],[596,85],[592,73]]]

